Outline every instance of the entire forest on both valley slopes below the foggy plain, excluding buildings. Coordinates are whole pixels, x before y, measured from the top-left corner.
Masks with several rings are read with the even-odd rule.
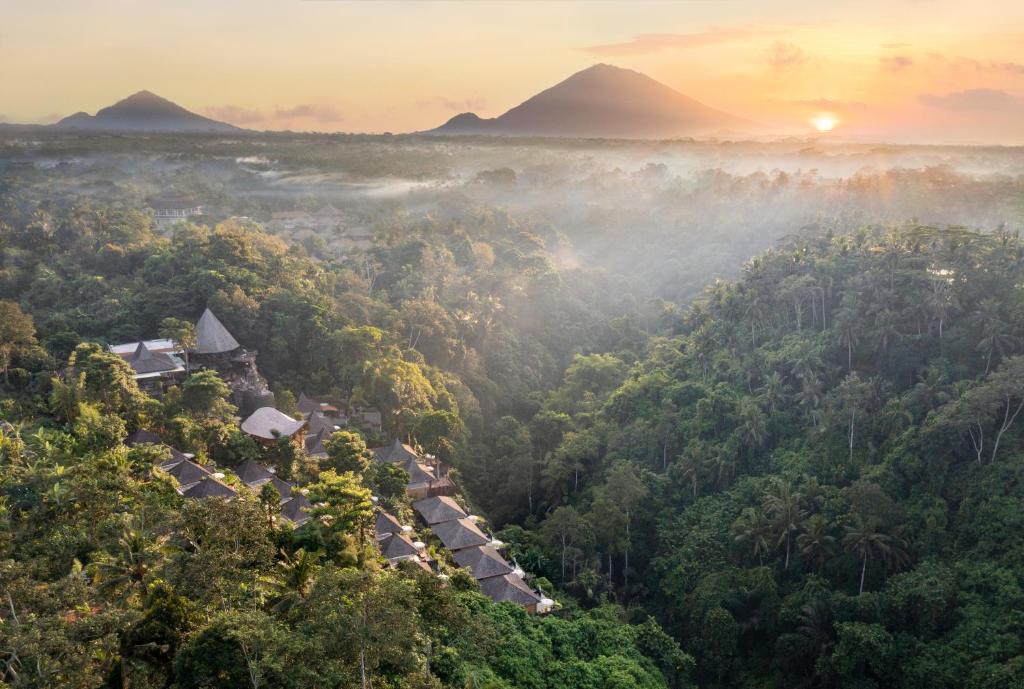
[[[557,267],[563,235],[493,209],[381,227],[343,261],[243,221],[158,233],[122,208],[0,209],[11,686],[1019,682],[1015,235],[805,231],[682,308]],[[386,476],[257,446],[216,377],[154,399],[91,344],[205,307],[259,350],[285,411],[298,391],[373,404],[383,432],[354,446],[402,437],[453,465],[561,611],[381,569],[353,515]],[[166,458],[126,446],[143,428],[332,488],[337,518],[292,529],[244,490],[183,501],[155,479]]]

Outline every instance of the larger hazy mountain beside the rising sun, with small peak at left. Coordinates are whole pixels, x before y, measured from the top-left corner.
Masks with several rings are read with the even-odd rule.
[[[673,138],[736,131],[750,124],[639,72],[595,64],[497,118],[462,113],[425,133]]]

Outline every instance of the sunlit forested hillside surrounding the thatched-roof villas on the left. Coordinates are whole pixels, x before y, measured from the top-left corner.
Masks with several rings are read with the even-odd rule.
[[[0,212],[0,686],[686,682],[691,659],[639,611],[579,609],[531,577],[563,604],[530,616],[492,603],[433,545],[449,578],[392,568],[368,539],[371,491],[413,519],[408,475],[368,445],[404,438],[461,466],[498,410],[557,380],[567,343],[616,341],[585,298],[597,291],[563,283],[543,238],[500,214],[472,234],[425,221],[329,263],[246,223],[161,234],[138,212],[14,195]],[[260,444],[212,371],[158,399],[102,346],[206,306],[258,349],[281,408],[297,415],[300,391],[373,404],[383,429],[339,433],[344,457],[333,442],[322,459],[288,438]],[[563,329],[543,332],[537,314]],[[237,497],[183,498],[161,469],[174,454],[130,445],[137,431],[213,465]],[[302,486],[313,518],[293,528],[269,484],[241,485],[246,461]]]

